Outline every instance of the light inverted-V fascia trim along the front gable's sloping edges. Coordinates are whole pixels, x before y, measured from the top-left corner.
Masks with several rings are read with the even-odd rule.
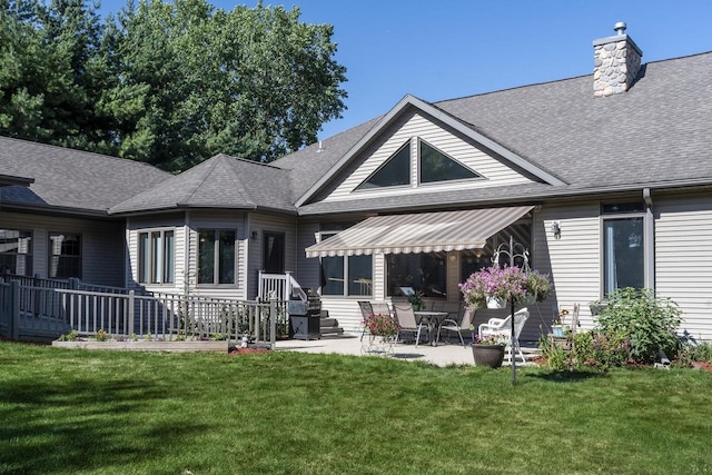
[[[304,205],[309,198],[312,198],[319,189],[322,189],[324,185],[326,185],[336,174],[338,174],[344,168],[344,166],[346,166],[346,164],[348,164],[352,157],[354,157],[357,152],[359,152],[368,144],[370,144],[370,141],[386,127],[388,127],[388,125],[408,106],[413,106],[422,110],[423,112],[433,116],[437,120],[441,120],[442,122],[448,125],[466,137],[469,137],[476,142],[487,147],[490,150],[498,154],[515,166],[528,171],[530,174],[546,181],[547,184],[553,186],[566,185],[555,176],[522,159],[520,156],[513,154],[511,150],[507,150],[505,147],[502,147],[500,144],[496,144],[487,137],[476,132],[471,127],[465,126],[463,122],[455,119],[449,113],[434,107],[431,103],[425,102],[422,99],[416,98],[415,96],[406,95],[393,109],[390,109],[385,116],[383,116],[383,118],[365,136],[363,136],[350,149],[348,149],[344,157],[342,157],[327,174],[319,178],[299,199],[297,199],[295,206],[299,207]]]

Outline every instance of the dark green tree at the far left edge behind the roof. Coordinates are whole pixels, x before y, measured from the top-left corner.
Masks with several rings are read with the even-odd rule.
[[[93,103],[108,72],[102,26],[83,0],[0,0],[0,132],[103,151]]]

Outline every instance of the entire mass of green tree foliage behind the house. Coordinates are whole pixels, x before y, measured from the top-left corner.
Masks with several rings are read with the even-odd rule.
[[[87,0],[0,0],[0,133],[184,170],[270,161],[339,117],[345,68],[298,8],[139,0],[103,23]]]

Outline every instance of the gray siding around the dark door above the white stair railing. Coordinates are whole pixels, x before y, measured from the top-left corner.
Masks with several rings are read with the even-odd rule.
[[[249,231],[256,231],[257,238],[249,240],[247,267],[247,298],[257,296],[258,275],[263,269],[264,234],[284,232],[285,235],[285,271],[297,269],[297,220],[294,217],[250,214]],[[304,249],[301,249],[304,251]]]

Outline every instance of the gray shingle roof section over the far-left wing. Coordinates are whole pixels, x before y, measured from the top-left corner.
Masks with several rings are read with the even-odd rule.
[[[0,174],[34,179],[0,188],[3,206],[106,212],[171,175],[132,160],[0,137]]]

